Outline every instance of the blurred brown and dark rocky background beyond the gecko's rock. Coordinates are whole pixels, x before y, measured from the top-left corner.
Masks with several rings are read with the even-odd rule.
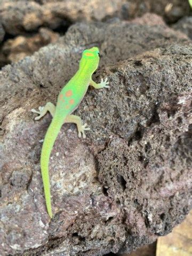
[[[158,15],[146,16],[151,23],[165,21],[192,37],[187,0],[0,0],[0,68],[54,43],[76,22],[131,21],[146,13]]]

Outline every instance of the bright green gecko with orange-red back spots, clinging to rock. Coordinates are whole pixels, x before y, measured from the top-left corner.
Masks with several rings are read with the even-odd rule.
[[[39,114],[39,116],[35,117],[35,120],[39,120],[47,113],[47,111],[49,111],[53,117],[45,134],[40,160],[46,208],[50,218],[53,217],[51,210],[49,179],[49,161],[51,151],[61,126],[64,123],[75,123],[77,125],[79,138],[81,138],[81,135],[85,138],[84,131],[90,130],[90,128],[87,127],[87,124],[82,125],[82,119],[79,116],[71,115],[71,113],[73,113],[79,103],[83,100],[89,85],[93,86],[95,89],[101,89],[103,87],[109,88],[107,78],[105,81],[101,79],[101,83],[99,84],[92,80],[92,75],[98,66],[98,47],[92,47],[91,49],[84,50],[79,62],[79,69],[59,93],[57,105],[54,106],[53,103],[47,102],[44,107],[39,107],[39,111],[31,109],[32,112]]]

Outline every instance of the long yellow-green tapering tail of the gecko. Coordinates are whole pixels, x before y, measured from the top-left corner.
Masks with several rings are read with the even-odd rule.
[[[52,122],[45,134],[42,153],[41,153],[41,173],[43,179],[43,187],[45,193],[45,202],[47,207],[47,212],[52,218],[51,210],[51,193],[50,193],[50,179],[49,179],[49,160],[51,155],[51,150],[53,148],[54,142],[59,134],[63,122],[57,116],[54,116]]]

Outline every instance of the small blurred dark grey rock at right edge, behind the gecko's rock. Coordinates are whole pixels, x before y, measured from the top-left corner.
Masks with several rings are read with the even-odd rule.
[[[192,39],[192,17],[182,18],[172,27],[176,30],[182,31],[182,33],[185,33],[189,38]]]

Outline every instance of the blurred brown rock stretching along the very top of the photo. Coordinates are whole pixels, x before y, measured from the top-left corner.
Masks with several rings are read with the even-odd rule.
[[[41,26],[55,29],[67,27],[76,21],[103,21],[111,17],[132,19],[146,12],[154,12],[169,22],[175,22],[188,15],[190,7],[187,1],[167,0],[63,0],[50,1],[13,1],[1,0],[1,21],[7,33],[26,34]]]

